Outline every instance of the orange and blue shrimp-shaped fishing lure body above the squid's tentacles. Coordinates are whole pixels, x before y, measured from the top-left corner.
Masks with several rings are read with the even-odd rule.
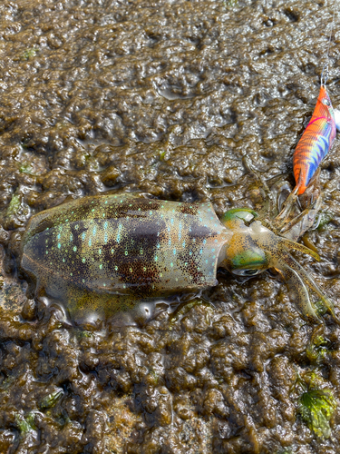
[[[297,194],[305,192],[318,165],[331,149],[339,127],[339,114],[333,109],[325,85],[321,85],[316,108],[293,155]]]

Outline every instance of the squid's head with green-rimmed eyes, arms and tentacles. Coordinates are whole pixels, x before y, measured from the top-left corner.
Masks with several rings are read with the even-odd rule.
[[[290,297],[306,321],[322,322],[310,301],[308,290],[315,292],[335,317],[332,301],[320,291],[309,273],[289,253],[294,249],[319,261],[316,252],[272,232],[253,210],[229,210],[221,222],[232,232],[232,236],[221,251],[219,266],[238,276],[254,276],[269,268],[276,268],[284,275]]]

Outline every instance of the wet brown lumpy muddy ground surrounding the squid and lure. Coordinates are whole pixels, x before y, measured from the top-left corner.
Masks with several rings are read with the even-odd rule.
[[[143,327],[74,327],[25,295],[34,212],[102,192],[251,207],[287,173],[313,112],[335,8],[328,89],[340,104],[336,2],[3,0],[0,5],[0,452],[333,454],[301,418],[306,389],[340,397],[340,329],[296,312],[279,277],[219,285]],[[340,145],[299,256],[340,299]],[[325,432],[324,432],[325,433]]]

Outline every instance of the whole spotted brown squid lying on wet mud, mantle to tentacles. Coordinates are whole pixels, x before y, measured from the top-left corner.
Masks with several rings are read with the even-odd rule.
[[[35,295],[63,301],[72,318],[107,317],[141,299],[211,287],[218,267],[240,276],[277,268],[306,320],[320,322],[307,288],[334,313],[289,254],[295,249],[318,260],[316,252],[278,236],[250,209],[229,210],[219,220],[209,202],[83,197],[35,214],[21,249]]]

